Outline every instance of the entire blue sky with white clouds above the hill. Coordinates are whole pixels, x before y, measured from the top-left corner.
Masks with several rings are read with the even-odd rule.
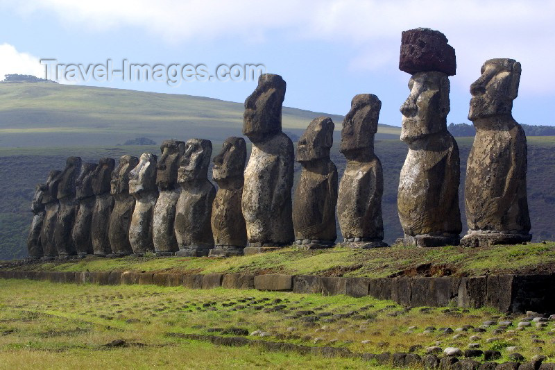
[[[0,0],[0,14],[0,76],[44,78],[40,60],[85,72],[108,60],[114,69],[123,60],[164,71],[201,65],[210,75],[219,65],[262,65],[287,82],[284,106],[345,115],[355,94],[370,93],[382,101],[379,122],[393,126],[409,94],[410,76],[398,69],[401,32],[433,28],[456,51],[447,123],[469,122],[469,87],[484,61],[513,58],[522,64],[513,116],[555,126],[547,66],[555,60],[555,0]],[[256,87],[241,74],[176,83],[67,76],[59,82],[241,103]]]

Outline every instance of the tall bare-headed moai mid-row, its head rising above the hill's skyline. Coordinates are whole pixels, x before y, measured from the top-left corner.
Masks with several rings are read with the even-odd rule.
[[[245,254],[275,250],[293,243],[291,188],[295,152],[282,133],[285,81],[277,74],[262,74],[245,101],[243,134],[253,142],[241,208],[248,247]]]

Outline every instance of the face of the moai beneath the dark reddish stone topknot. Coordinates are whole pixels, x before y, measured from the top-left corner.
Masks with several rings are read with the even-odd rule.
[[[442,72],[418,72],[409,81],[411,93],[401,106],[401,140],[413,142],[447,130],[449,78]]]

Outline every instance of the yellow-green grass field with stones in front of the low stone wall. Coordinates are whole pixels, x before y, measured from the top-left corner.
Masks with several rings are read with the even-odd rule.
[[[407,352],[413,346],[422,355],[427,346],[464,350],[475,342],[483,350],[500,350],[499,362],[506,360],[509,346],[518,346],[526,358],[537,353],[547,355],[548,361],[554,358],[552,323],[517,330],[523,318],[504,317],[490,309],[404,309],[370,297],[0,280],[0,368],[64,369],[82,366],[83,361],[92,369],[362,369],[375,365],[252,346],[214,346],[169,335],[237,337],[257,330],[264,335],[248,335],[248,339],[348,348],[353,353]],[[483,326],[484,321],[504,319],[512,326]],[[429,326],[438,329],[424,333]],[[474,333],[479,326],[484,330]],[[445,334],[441,328],[466,329]],[[501,333],[494,334],[495,329]],[[472,335],[477,337],[470,339]],[[118,339],[125,344],[105,346]]]

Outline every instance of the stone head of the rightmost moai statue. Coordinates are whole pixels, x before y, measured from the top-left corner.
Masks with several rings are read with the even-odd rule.
[[[511,115],[518,96],[520,63],[513,59],[490,59],[481,66],[481,76],[470,85],[468,119]]]

